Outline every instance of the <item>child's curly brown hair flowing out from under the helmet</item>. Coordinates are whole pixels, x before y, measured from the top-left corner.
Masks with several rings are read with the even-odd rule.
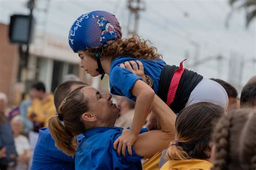
[[[150,40],[144,40],[138,35],[133,35],[131,38],[116,39],[106,47],[91,48],[85,51],[90,56],[94,56],[97,52],[100,53],[102,58],[111,58],[111,61],[120,56],[131,56],[145,60],[162,58],[162,55],[157,53],[157,48],[152,46]]]

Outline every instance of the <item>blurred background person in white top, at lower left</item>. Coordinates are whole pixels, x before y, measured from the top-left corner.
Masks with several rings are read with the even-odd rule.
[[[21,134],[22,117],[17,115],[11,119],[11,128],[14,134],[15,148],[18,154],[16,170],[29,169],[29,160],[31,158],[31,150],[28,138]]]

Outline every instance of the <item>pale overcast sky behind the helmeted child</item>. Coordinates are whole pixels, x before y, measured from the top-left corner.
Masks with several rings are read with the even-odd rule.
[[[26,1],[0,0],[0,22],[10,15],[26,14]],[[219,78],[239,90],[256,75],[256,19],[245,28],[245,10],[231,16],[227,0],[146,0],[140,11],[138,34],[149,39],[169,65],[184,65],[207,78]],[[48,9],[48,12],[43,12]],[[129,10],[124,0],[36,0],[36,30],[68,37],[70,26],[82,13],[105,10],[113,13],[127,36]],[[68,43],[68,40],[67,40]],[[217,60],[221,55],[223,58]],[[196,59],[197,58],[197,59]],[[194,66],[194,62],[200,64]],[[254,62],[253,62],[254,61]]]

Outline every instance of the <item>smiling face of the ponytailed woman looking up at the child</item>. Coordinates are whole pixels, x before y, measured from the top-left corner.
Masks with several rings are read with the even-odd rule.
[[[97,117],[97,121],[116,122],[120,109],[112,102],[110,93],[101,93],[92,87],[85,87],[82,91],[89,100],[89,112]]]

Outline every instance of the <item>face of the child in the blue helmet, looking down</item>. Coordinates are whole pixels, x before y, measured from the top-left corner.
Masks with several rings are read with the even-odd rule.
[[[82,67],[85,72],[90,74],[92,77],[96,77],[99,75],[99,72],[96,71],[98,68],[97,61],[91,56],[87,55],[84,53],[84,51],[78,51],[79,58],[81,59],[80,61],[80,67]]]

